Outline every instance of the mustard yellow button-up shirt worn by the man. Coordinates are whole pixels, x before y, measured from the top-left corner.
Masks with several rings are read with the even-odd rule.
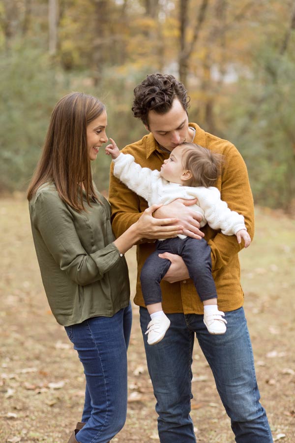
[[[221,199],[229,208],[242,214],[247,230],[254,235],[254,207],[246,165],[236,147],[227,140],[222,140],[205,132],[194,123],[189,124],[196,129],[194,143],[220,153],[224,156],[222,175],[216,183],[221,192]],[[141,140],[126,146],[122,152],[131,154],[142,167],[160,170],[169,153],[163,152],[153,135],[145,135]],[[112,228],[115,236],[121,235],[132,223],[138,220],[147,208],[147,202],[133,191],[126,188],[113,175],[111,166],[109,201],[112,207]],[[240,266],[238,252],[243,248],[236,236],[227,236],[220,231],[211,229],[208,224],[202,228],[205,239],[211,247],[212,273],[218,294],[218,307],[222,311],[233,311],[243,304],[243,290],[240,285]],[[154,251],[153,243],[137,245],[138,275],[134,302],[145,306],[141,285],[140,272],[150,253]],[[166,313],[203,314],[203,304],[199,299],[193,282],[188,279],[177,283],[161,283],[163,309]]]

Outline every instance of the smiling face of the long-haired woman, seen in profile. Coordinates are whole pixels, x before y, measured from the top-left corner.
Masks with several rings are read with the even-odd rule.
[[[96,160],[99,148],[108,141],[106,127],[108,124],[107,113],[104,110],[87,127],[87,147],[90,160]]]

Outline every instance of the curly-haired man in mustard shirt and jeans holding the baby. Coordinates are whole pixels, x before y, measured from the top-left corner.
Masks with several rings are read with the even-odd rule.
[[[133,113],[141,119],[149,134],[126,146],[143,167],[160,170],[164,159],[183,141],[194,142],[224,156],[222,175],[215,186],[231,210],[242,214],[251,237],[254,233],[253,198],[245,163],[235,146],[188,123],[187,91],[172,75],[152,74],[135,88]],[[111,173],[110,203],[113,230],[118,236],[147,208],[147,202],[128,190]],[[194,334],[207,358],[223,405],[231,418],[237,443],[271,443],[266,411],[261,406],[255,377],[253,353],[244,316],[240,286],[238,252],[243,245],[235,236],[226,236],[208,225],[199,230],[198,216],[189,209],[194,201],[176,200],[155,211],[156,218],[176,217],[183,233],[195,238],[205,236],[211,248],[212,274],[218,306],[225,312],[227,331],[210,335],[203,322],[203,305],[189,279],[182,259],[164,253],[172,265],[161,284],[163,309],[171,321],[165,338],[154,346],[147,344],[145,332],[150,320],[145,308],[139,276],[151,242],[137,246],[138,280],[135,303],[148,361],[148,371],[157,400],[156,411],[161,443],[196,442],[190,418],[191,362]],[[154,238],[156,238],[156,233]]]

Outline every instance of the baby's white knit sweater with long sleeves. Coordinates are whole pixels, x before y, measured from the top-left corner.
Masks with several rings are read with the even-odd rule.
[[[234,235],[240,229],[246,229],[244,217],[228,208],[227,203],[221,200],[217,188],[182,186],[178,183],[167,182],[161,177],[159,171],[142,168],[130,154],[120,153],[113,161],[115,177],[136,194],[145,198],[148,206],[167,205],[177,198],[187,200],[197,198],[199,204],[191,208],[202,214],[201,227],[208,223],[212,229],[221,229],[225,235]],[[186,236],[179,234],[178,237],[185,238]]]

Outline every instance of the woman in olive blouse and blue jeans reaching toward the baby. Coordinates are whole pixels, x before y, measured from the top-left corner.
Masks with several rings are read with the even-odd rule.
[[[142,238],[182,232],[171,226],[176,219],[154,219],[154,205],[114,239],[110,205],[96,190],[90,168],[108,141],[106,126],[105,106],[97,98],[64,96],[53,110],[28,190],[45,292],[86,376],[82,422],[68,443],[107,443],[125,422],[131,307],[123,254]]]

